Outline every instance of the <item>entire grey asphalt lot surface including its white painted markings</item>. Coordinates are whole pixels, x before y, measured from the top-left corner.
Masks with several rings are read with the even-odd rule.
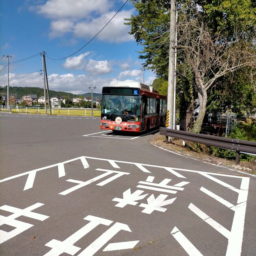
[[[0,113],[0,255],[256,255],[256,178],[115,134]]]

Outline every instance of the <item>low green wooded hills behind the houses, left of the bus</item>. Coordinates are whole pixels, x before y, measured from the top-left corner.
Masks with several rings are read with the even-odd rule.
[[[7,87],[0,87],[0,93],[6,93],[7,94]],[[39,87],[13,87],[9,86],[9,95],[17,95],[17,98],[21,98],[22,96],[26,94],[36,94],[37,97],[44,96],[44,89]],[[80,95],[72,94],[72,93],[66,93],[64,91],[54,91],[49,90],[49,97],[68,97],[68,98],[75,98],[79,97]],[[83,98],[85,96],[90,96],[91,93],[84,93],[82,94]],[[100,93],[93,93],[93,98],[101,98]]]

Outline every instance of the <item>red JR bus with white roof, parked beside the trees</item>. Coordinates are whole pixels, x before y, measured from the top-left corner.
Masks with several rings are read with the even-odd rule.
[[[139,82],[102,88],[100,129],[142,132],[165,123],[167,96]]]

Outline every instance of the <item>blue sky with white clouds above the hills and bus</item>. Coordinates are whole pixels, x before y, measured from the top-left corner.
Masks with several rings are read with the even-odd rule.
[[[91,43],[73,54],[98,33],[125,0],[11,0],[0,3],[0,58],[9,59],[10,86],[43,88],[42,51],[46,53],[49,89],[80,94],[95,83],[102,86],[118,80],[142,82],[141,50],[124,18],[135,14],[128,1],[108,26]],[[29,58],[23,61],[24,58]],[[48,58],[47,58],[48,57]],[[52,59],[49,59],[52,58]],[[0,86],[7,85],[6,57],[0,60]],[[16,62],[17,61],[17,62]],[[37,71],[37,72],[36,72]],[[31,74],[30,74],[31,72]],[[33,73],[32,73],[33,72]],[[145,83],[151,84],[154,73],[145,71]]]

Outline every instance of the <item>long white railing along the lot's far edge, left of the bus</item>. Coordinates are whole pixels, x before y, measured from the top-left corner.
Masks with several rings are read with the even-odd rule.
[[[18,106],[0,106],[0,111],[8,111],[12,113],[27,114],[47,114],[47,115],[78,115],[91,116],[91,108],[35,108],[35,107],[18,107]],[[93,109],[93,116],[100,117],[100,109]]]

